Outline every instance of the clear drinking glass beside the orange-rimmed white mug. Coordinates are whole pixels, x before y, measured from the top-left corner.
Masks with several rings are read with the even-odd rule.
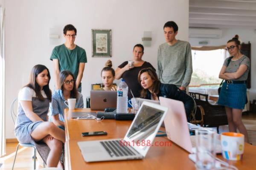
[[[197,170],[215,169],[216,133],[211,128],[195,130],[196,163]]]

